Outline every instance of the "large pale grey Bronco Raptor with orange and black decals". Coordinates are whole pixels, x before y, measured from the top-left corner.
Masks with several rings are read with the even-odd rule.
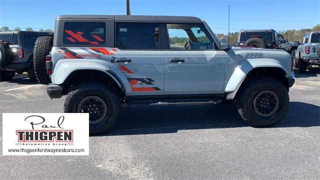
[[[230,47],[197,17],[62,15],[54,30],[35,43],[37,74],[51,98],[67,95],[64,112],[89,113],[90,134],[110,129],[121,105],[235,100],[251,126],[287,111],[290,54]]]

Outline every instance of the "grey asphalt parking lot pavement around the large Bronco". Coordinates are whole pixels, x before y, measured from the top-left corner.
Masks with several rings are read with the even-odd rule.
[[[247,126],[234,104],[123,107],[113,130],[90,136],[89,156],[0,155],[0,178],[320,179],[319,68],[295,75],[272,127]],[[1,113],[63,112],[64,98],[26,75],[0,82]]]

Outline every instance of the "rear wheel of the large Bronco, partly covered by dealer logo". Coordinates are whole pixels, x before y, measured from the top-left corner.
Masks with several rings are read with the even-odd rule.
[[[89,133],[109,130],[116,122],[120,100],[111,88],[96,81],[76,85],[64,102],[64,112],[89,113]]]

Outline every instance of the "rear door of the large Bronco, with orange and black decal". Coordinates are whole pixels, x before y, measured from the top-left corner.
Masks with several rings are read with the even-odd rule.
[[[117,22],[116,48],[111,48],[113,72],[122,73],[127,94],[159,94],[164,86],[164,56],[159,49],[158,23]]]

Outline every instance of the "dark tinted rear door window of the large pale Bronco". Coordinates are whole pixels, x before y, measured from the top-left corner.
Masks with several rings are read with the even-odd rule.
[[[116,47],[119,49],[159,49],[158,23],[117,23]]]

